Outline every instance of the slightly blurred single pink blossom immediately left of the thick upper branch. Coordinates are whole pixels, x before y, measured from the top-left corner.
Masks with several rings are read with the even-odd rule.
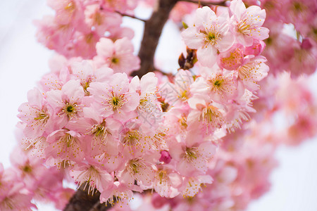
[[[139,68],[140,60],[133,55],[133,45],[127,38],[111,39],[101,38],[96,45],[97,56],[94,58],[97,65],[106,65],[114,72],[129,73]]]

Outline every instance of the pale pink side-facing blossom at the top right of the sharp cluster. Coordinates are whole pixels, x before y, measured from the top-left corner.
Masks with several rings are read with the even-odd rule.
[[[268,29],[262,27],[266,18],[266,11],[259,6],[245,7],[242,0],[234,0],[230,4],[233,13],[232,21],[235,25],[237,41],[244,46],[251,46],[254,39],[268,38]]]

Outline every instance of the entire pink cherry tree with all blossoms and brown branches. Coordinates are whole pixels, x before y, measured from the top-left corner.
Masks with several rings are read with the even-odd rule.
[[[134,197],[137,210],[245,210],[276,148],[316,135],[316,1],[47,3],[37,39],[56,56],[18,108],[0,210],[132,210]],[[123,16],[144,22],[137,55]],[[184,42],[175,74],[155,60],[168,19]]]

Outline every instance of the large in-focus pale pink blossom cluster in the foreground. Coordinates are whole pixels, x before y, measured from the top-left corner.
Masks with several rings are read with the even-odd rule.
[[[69,12],[57,9],[55,18]],[[88,57],[67,59],[68,52],[56,49],[63,56],[19,108],[25,143],[46,165],[67,168],[78,186],[87,182],[90,193],[99,191],[101,203],[149,188],[168,198],[194,196],[200,184],[212,183],[206,173],[218,139],[254,112],[257,82],[268,72],[263,47],[247,49],[268,36],[261,27],[265,11],[234,1],[230,12],[231,18],[229,11],[197,9],[182,37],[198,49],[199,75],[179,70],[172,83],[153,72],[127,75],[138,65],[127,37],[101,37],[97,54]],[[75,24],[80,13],[72,15]],[[260,30],[263,36],[256,35]],[[161,103],[169,105],[164,112]]]

